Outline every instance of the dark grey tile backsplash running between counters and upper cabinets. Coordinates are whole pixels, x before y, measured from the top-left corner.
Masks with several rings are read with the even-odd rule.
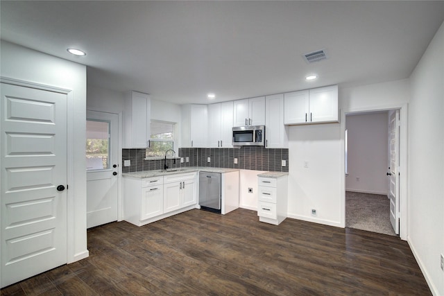
[[[289,150],[285,148],[266,149],[261,146],[242,146],[241,148],[179,148],[177,157],[183,157],[174,164],[173,159],[167,159],[169,168],[189,166],[209,166],[216,168],[240,168],[255,171],[289,171]],[[186,162],[188,157],[188,162]],[[210,157],[210,162],[207,162]],[[234,159],[237,158],[237,164]],[[130,160],[130,166],[123,166],[125,160]],[[287,166],[282,166],[282,160]],[[122,149],[122,172],[153,171],[164,168],[163,159],[145,160],[145,149]]]

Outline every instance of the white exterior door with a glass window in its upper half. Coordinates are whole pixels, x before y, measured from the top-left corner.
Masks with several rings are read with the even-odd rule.
[[[87,111],[87,227],[118,218],[119,116]]]

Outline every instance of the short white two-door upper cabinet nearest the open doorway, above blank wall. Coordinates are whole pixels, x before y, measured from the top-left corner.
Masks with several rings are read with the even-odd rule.
[[[284,94],[284,123],[339,122],[338,86]]]

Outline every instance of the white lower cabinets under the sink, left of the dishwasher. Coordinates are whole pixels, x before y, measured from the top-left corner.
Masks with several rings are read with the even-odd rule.
[[[194,209],[196,173],[123,178],[123,220],[137,226]]]

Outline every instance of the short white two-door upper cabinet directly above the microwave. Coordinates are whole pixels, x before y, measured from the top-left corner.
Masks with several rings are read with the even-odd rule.
[[[233,126],[264,125],[265,97],[234,101],[233,116]]]

